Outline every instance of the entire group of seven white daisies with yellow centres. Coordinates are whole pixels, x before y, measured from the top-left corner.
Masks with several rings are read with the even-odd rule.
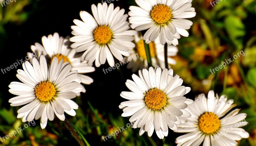
[[[44,129],[55,115],[60,120],[65,120],[65,112],[75,116],[78,105],[71,99],[86,92],[83,84],[93,82],[84,75],[95,71],[93,62],[96,67],[106,61],[114,66],[114,58],[122,61],[138,54],[140,59],[129,62],[127,68],[139,70],[139,76],[133,74],[133,81],[125,83],[131,91],[120,94],[128,101],[119,108],[123,117],[131,116],[129,121],[133,128],[140,128],[140,135],[147,132],[151,136],[156,131],[163,139],[169,128],[188,133],[176,139],[180,146],[199,146],[202,142],[204,146],[237,145],[236,141],[248,138],[249,134],[239,128],[248,124],[241,122],[246,114],[238,114],[239,109],[228,113],[235,106],[232,99],[215,96],[213,91],[208,98],[201,94],[195,101],[188,99],[185,95],[191,88],[182,86],[180,76],[167,69],[176,64],[171,57],[178,52],[180,35],[188,36],[186,29],[193,24],[187,20],[196,15],[192,0],[135,1],[139,7],[131,6],[128,14],[114,4],[93,4],[93,16],[81,11],[82,21],[74,20],[73,37],[54,33],[43,36],[42,44],[32,45],[37,57],[28,53],[30,61],[23,63],[23,70],[16,75],[21,82],[9,85],[10,93],[17,95],[9,100],[11,106],[24,105],[17,118],[23,122],[40,119]],[[148,66],[144,42],[155,69]],[[168,66],[164,63],[165,44]]]

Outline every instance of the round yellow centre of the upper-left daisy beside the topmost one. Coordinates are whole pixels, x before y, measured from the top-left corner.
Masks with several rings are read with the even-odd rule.
[[[111,40],[112,35],[110,28],[105,25],[100,25],[93,31],[94,40],[99,44],[107,44]]]

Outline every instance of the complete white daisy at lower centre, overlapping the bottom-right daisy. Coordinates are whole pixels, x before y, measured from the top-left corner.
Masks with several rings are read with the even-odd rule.
[[[184,110],[193,100],[184,97],[191,88],[181,86],[183,80],[179,75],[173,77],[173,70],[162,71],[160,67],[149,67],[149,70],[133,74],[125,83],[131,92],[122,92],[121,97],[129,101],[119,105],[124,113],[122,117],[132,116],[129,121],[133,128],[140,128],[140,135],[145,131],[150,137],[154,130],[160,139],[168,135],[168,127],[177,130],[180,117],[190,117]]]

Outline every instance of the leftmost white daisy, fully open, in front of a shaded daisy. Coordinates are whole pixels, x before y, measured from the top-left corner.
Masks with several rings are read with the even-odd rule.
[[[54,119],[54,113],[62,121],[64,112],[76,115],[74,109],[78,109],[78,105],[71,99],[83,90],[79,87],[81,79],[76,70],[70,72],[71,65],[63,64],[63,60],[58,63],[58,58],[53,58],[49,69],[43,55],[40,61],[32,59],[33,66],[27,61],[22,64],[23,70],[19,69],[16,75],[21,82],[9,85],[9,92],[17,95],[9,100],[11,106],[25,105],[17,111],[17,118],[22,118],[23,122],[41,118],[40,125],[44,129],[47,120]]]

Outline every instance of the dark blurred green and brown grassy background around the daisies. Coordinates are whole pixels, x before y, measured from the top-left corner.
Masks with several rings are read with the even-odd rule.
[[[3,1],[3,0],[2,0]],[[211,0],[193,0],[196,17],[189,19],[193,26],[189,37],[179,39],[179,52],[174,57],[176,65],[172,65],[174,74],[179,74],[184,85],[192,90],[187,98],[194,99],[200,93],[207,94],[213,89],[219,95],[227,95],[234,99],[236,108],[247,113],[245,119],[249,125],[244,129],[250,133],[248,139],[239,142],[241,146],[256,146],[256,1],[255,0],[223,0],[215,6]],[[6,68],[17,59],[25,60],[26,53],[35,42],[41,43],[44,35],[58,32],[61,36],[71,35],[70,26],[73,19],[80,19],[79,12],[91,12],[91,5],[101,3],[100,0],[77,1],[46,1],[16,0],[7,5],[0,5],[0,68]],[[119,0],[111,2],[129,12],[135,0]],[[72,36],[72,35],[71,35]],[[223,60],[233,58],[240,51],[244,56],[238,57],[226,68],[216,73],[210,69],[219,66]],[[121,117],[119,104],[125,99],[120,96],[122,91],[129,91],[125,86],[127,79],[132,79],[131,70],[126,65],[121,70],[113,70],[107,74],[102,71],[109,65],[101,65],[94,73],[88,75],[94,79],[86,85],[86,93],[76,97],[79,105],[75,117],[66,118],[84,135],[90,145],[121,145],[121,146],[174,146],[175,139],[183,134],[174,133],[169,129],[168,137],[160,140],[156,133],[148,137],[145,133],[139,136],[139,128],[127,127],[130,117]],[[22,69],[22,65],[18,66]],[[121,72],[120,72],[121,71]],[[11,107],[8,100],[14,95],[8,92],[16,77],[17,69],[6,73],[0,72],[0,136],[4,137],[16,128],[24,127],[21,119],[17,119],[20,107]],[[55,117],[41,129],[40,121],[36,125],[12,136],[2,146],[55,146],[78,145],[70,135],[64,123]],[[127,127],[118,136],[102,139],[120,127]],[[129,126],[129,125],[128,125]],[[120,128],[121,129],[121,128]],[[105,141],[104,141],[105,140]]]

